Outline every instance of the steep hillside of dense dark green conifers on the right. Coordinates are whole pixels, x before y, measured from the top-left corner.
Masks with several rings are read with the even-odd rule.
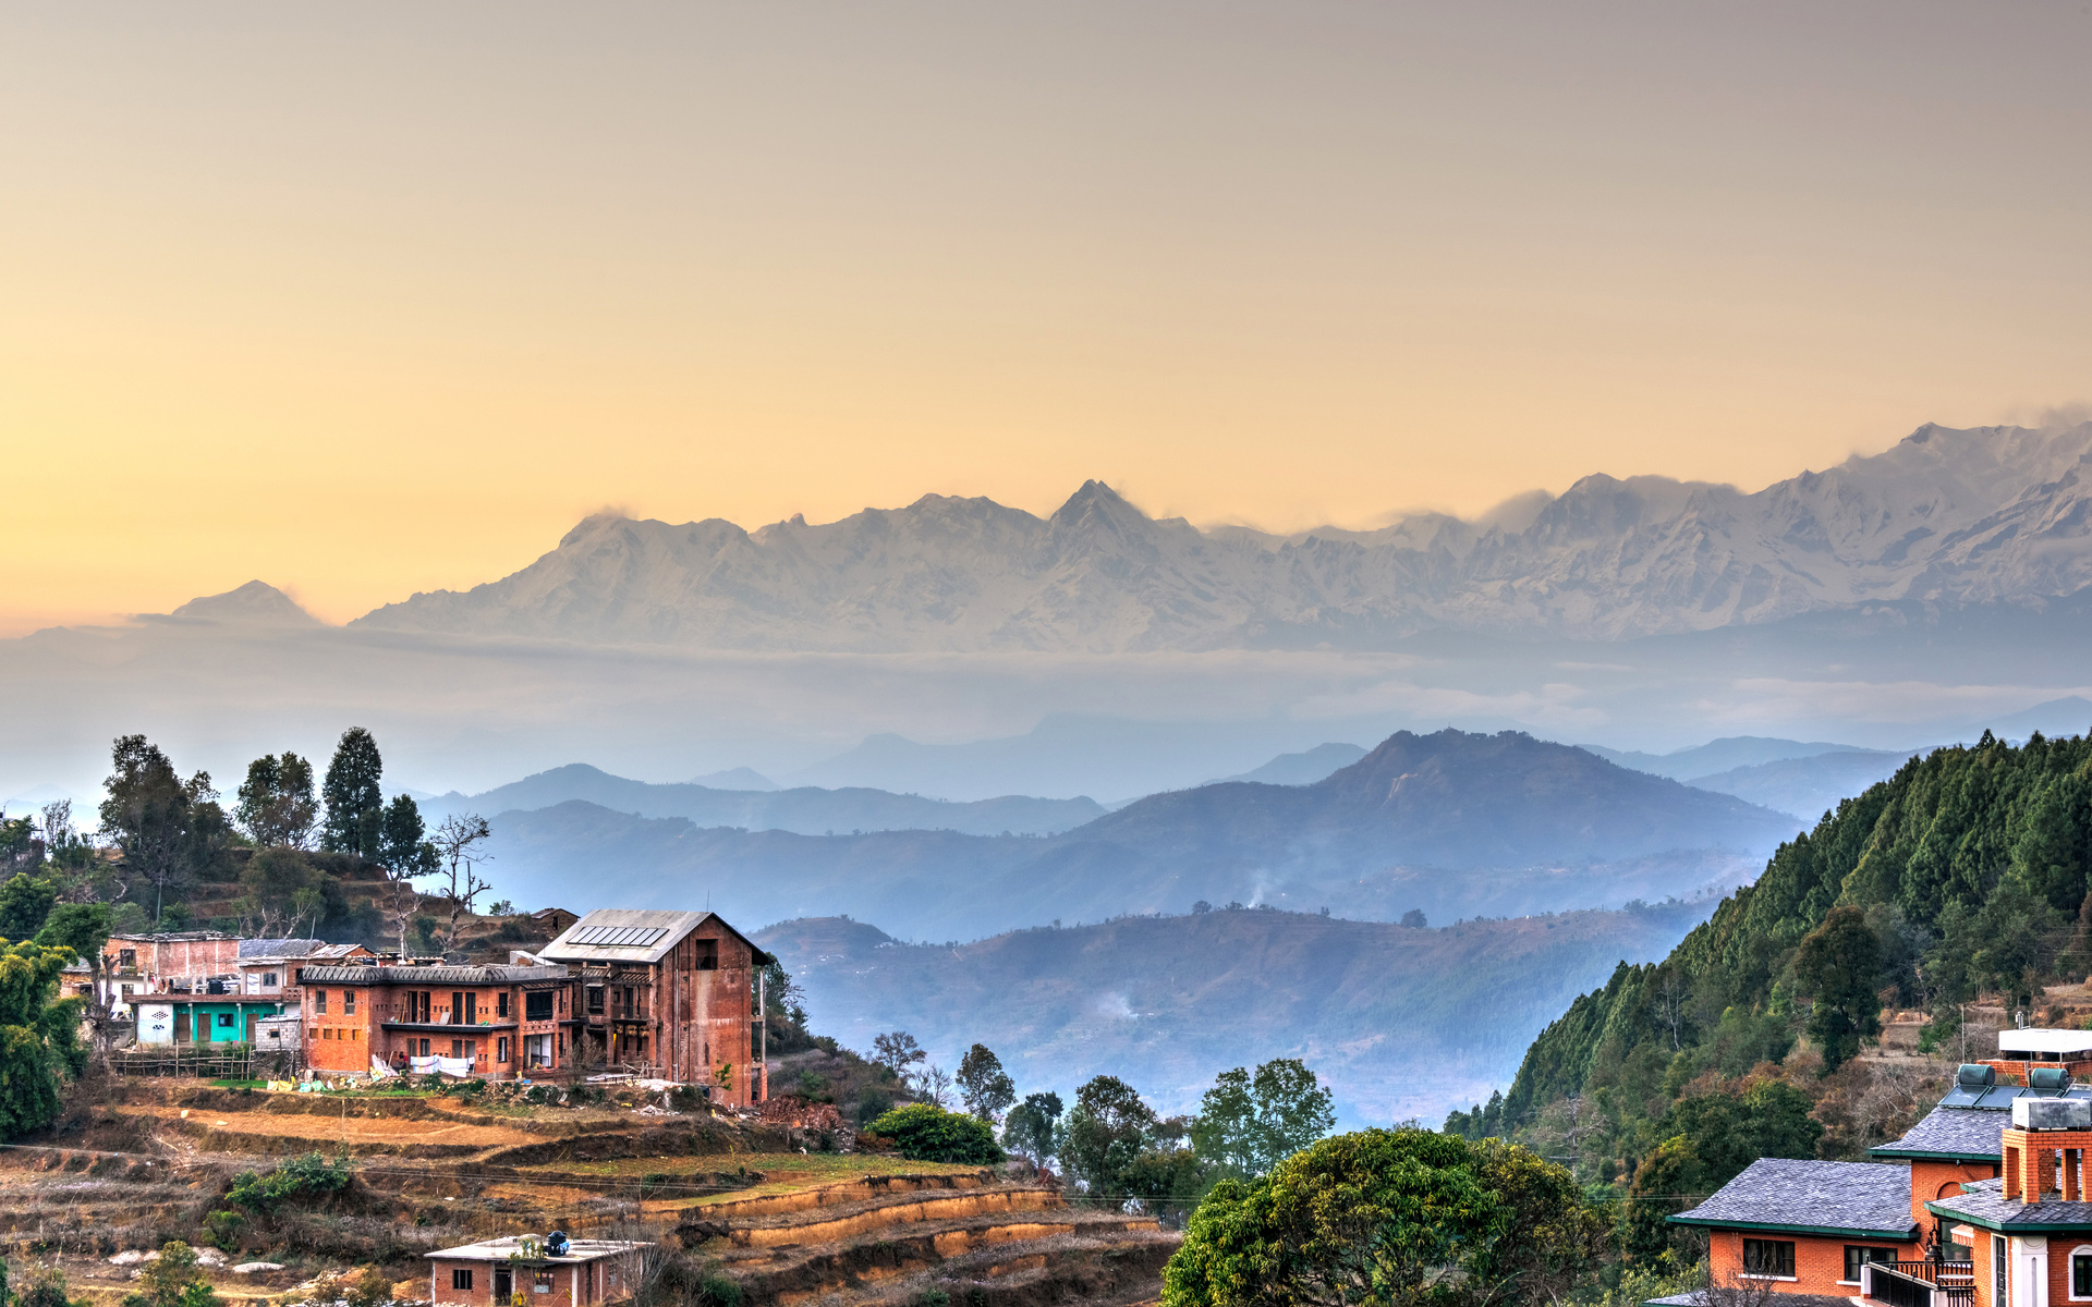
[[[1759,1154],[1862,1150],[1824,1138],[1826,1102],[1874,1075],[1830,1079],[1879,1035],[1885,1000],[1931,1014],[1931,1048],[1969,1000],[2010,1010],[2084,977],[2088,799],[2088,738],[1985,734],[1912,759],[1782,845],[1669,958],[1577,998],[1492,1119],[1452,1127],[1569,1136],[1594,1179],[1648,1194],[1705,1192]]]

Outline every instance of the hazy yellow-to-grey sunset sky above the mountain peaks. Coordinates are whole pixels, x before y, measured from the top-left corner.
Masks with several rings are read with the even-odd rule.
[[[8,4],[0,629],[2092,397],[2092,4]]]

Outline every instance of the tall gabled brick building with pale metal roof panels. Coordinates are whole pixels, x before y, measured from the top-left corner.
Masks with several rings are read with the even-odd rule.
[[[764,1100],[761,968],[770,954],[711,912],[600,908],[538,958],[575,972],[577,1060]]]

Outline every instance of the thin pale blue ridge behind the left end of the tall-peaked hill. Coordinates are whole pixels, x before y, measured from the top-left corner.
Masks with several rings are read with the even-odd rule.
[[[688,818],[692,826],[847,834],[860,830],[960,830],[967,834],[1050,834],[1105,813],[1090,799],[1027,799],[1010,795],[977,803],[946,803],[885,790],[715,790],[701,784],[649,784],[611,776],[588,763],[569,763],[496,786],[481,795],[441,795],[423,807],[433,813],[529,811],[579,799],[642,818]]]

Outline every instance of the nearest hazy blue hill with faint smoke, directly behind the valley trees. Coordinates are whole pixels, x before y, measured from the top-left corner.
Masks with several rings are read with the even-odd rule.
[[[805,985],[814,1029],[868,1050],[904,1029],[946,1069],[973,1041],[1021,1092],[1111,1073],[1186,1110],[1228,1067],[1299,1056],[1345,1123],[1387,1125],[1504,1087],[1525,1044],[1621,960],[1663,956],[1707,905],[1412,931],[1207,912],[910,945],[841,918],[755,935]]]

